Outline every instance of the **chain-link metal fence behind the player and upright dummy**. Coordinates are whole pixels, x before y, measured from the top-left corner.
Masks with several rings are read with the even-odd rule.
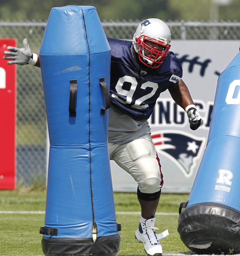
[[[136,21],[103,21],[107,37],[132,40],[139,24]],[[172,39],[239,40],[237,22],[166,22]],[[28,38],[32,52],[39,52],[46,22],[0,21],[0,37],[16,38],[18,47]],[[206,47],[206,46],[205,46]],[[17,66],[17,186],[46,184],[46,113],[41,70]]]

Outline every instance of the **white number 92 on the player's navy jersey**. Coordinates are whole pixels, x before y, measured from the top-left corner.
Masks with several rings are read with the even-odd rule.
[[[124,82],[129,82],[131,83],[130,90],[124,90],[122,88]],[[137,109],[146,109],[148,107],[148,104],[141,105],[145,100],[151,98],[155,92],[158,89],[158,84],[153,83],[153,82],[146,82],[141,85],[141,89],[146,89],[147,87],[152,88],[152,91],[149,94],[144,95],[143,97],[140,97],[139,99],[136,99],[134,105],[132,107],[137,108]],[[122,96],[127,97],[126,101],[119,99],[119,97],[116,94],[112,94],[113,98],[116,98],[119,102],[124,103],[124,104],[131,104],[132,103],[132,98],[133,94],[137,88],[137,80],[134,77],[131,76],[124,76],[119,78],[117,84],[116,84],[116,91],[118,94],[121,94]],[[140,106],[141,105],[141,106]]]

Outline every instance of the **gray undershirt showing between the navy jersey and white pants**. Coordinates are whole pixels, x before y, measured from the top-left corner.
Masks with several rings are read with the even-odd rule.
[[[109,142],[125,144],[145,134],[151,134],[147,120],[135,121],[111,105],[108,124]]]

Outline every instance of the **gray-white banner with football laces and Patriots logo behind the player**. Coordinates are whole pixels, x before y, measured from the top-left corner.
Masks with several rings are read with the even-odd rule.
[[[192,131],[187,115],[168,91],[160,95],[149,119],[164,175],[164,193],[190,193],[208,138],[217,79],[239,51],[238,41],[172,40],[202,125]],[[137,183],[111,162],[114,192],[136,192]]]

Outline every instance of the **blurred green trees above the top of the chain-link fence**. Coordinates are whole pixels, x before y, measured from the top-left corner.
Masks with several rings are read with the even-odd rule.
[[[46,21],[52,7],[93,5],[101,21],[161,20],[239,21],[238,0],[1,0],[0,20]]]

